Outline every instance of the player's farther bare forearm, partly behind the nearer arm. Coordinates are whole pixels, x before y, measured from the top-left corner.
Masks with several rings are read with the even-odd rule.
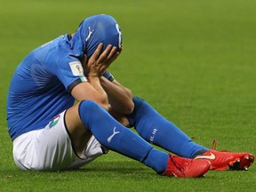
[[[103,76],[100,77],[100,84],[108,94],[108,102],[112,110],[120,114],[132,113],[134,104],[131,90],[119,84],[116,79],[109,81]]]

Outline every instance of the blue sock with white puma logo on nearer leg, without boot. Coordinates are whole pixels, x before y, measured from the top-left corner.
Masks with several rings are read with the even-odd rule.
[[[153,148],[135,132],[119,124],[94,101],[81,101],[79,116],[85,129],[92,132],[103,146],[138,160],[158,173],[165,171],[169,158],[167,153]]]

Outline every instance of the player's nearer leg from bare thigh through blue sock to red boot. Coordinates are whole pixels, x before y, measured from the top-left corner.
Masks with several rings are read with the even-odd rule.
[[[210,167],[208,161],[197,162],[197,160],[169,156],[153,148],[139,135],[119,124],[92,100],[83,100],[69,108],[65,119],[71,140],[78,150],[84,148],[80,135],[89,131],[103,146],[138,160],[159,174],[198,177],[207,172]]]

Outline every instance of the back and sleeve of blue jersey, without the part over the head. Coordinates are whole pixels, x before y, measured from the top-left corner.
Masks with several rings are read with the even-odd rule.
[[[7,100],[9,134],[44,128],[53,116],[70,108],[69,91],[86,80],[82,64],[70,49],[68,35],[38,47],[16,69]]]

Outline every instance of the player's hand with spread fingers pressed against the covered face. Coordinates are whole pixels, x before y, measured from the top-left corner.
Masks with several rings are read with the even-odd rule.
[[[103,44],[100,43],[88,62],[86,55],[84,56],[84,62],[87,62],[87,65],[84,66],[87,76],[102,76],[108,66],[116,60],[120,54],[120,52],[116,52],[116,46],[112,46],[111,44],[108,44],[105,51],[100,53],[102,47]]]

